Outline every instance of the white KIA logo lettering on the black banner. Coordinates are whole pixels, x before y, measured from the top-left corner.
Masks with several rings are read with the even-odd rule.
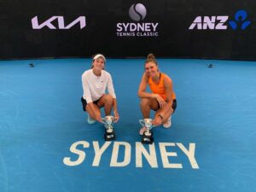
[[[57,24],[56,26],[52,23]],[[42,29],[44,26],[47,26],[49,29],[69,29],[76,24],[80,24],[80,29],[83,29],[86,26],[85,16],[79,16],[77,19],[73,20],[67,26],[65,26],[63,16],[52,16],[48,20],[45,20],[43,23],[38,23],[38,16],[32,18],[32,28],[33,29]]]

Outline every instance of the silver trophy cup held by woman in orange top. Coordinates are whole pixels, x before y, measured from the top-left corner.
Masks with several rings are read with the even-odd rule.
[[[139,119],[139,123],[146,127],[146,131],[143,133],[142,143],[151,144],[154,142],[153,132],[151,129],[154,127],[153,119]]]

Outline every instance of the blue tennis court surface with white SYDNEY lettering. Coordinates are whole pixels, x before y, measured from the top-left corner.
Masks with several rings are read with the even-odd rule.
[[[138,135],[143,59],[107,60],[120,116],[108,143],[80,103],[90,59],[0,61],[0,191],[255,192],[256,63],[158,62],[177,110],[149,146]]]

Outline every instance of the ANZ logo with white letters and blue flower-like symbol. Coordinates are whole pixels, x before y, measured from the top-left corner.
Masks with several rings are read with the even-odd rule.
[[[247,12],[245,10],[238,10],[234,16],[234,20],[229,20],[230,16],[197,16],[189,30],[226,30],[228,24],[233,30],[245,30],[251,24],[247,20]]]

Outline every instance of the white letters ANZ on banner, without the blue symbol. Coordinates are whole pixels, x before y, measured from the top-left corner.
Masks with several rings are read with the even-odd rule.
[[[229,16],[197,16],[193,23],[189,26],[189,30],[192,29],[217,29],[225,30],[228,26],[225,22],[229,20]]]

